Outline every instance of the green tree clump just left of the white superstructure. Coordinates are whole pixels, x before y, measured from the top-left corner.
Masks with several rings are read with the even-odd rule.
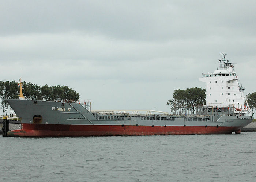
[[[171,111],[174,107],[191,107],[199,106],[205,103],[206,89],[202,88],[187,88],[185,90],[174,90],[173,99],[168,100],[167,105],[171,106]]]

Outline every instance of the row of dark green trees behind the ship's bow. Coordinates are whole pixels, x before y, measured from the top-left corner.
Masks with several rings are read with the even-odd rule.
[[[73,102],[79,99],[79,93],[68,86],[48,86],[32,84],[31,82],[22,82],[22,92],[25,99],[28,100],[46,100],[46,101],[64,101]],[[3,114],[7,112],[8,103],[6,99],[19,98],[19,83],[15,81],[0,81],[0,110]]]

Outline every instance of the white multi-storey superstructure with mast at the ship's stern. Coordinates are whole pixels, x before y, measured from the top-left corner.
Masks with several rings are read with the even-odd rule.
[[[206,105],[213,107],[235,107],[244,110],[245,90],[238,83],[238,76],[233,63],[225,60],[226,54],[221,54],[219,68],[211,73],[203,73],[199,81],[206,82]]]

